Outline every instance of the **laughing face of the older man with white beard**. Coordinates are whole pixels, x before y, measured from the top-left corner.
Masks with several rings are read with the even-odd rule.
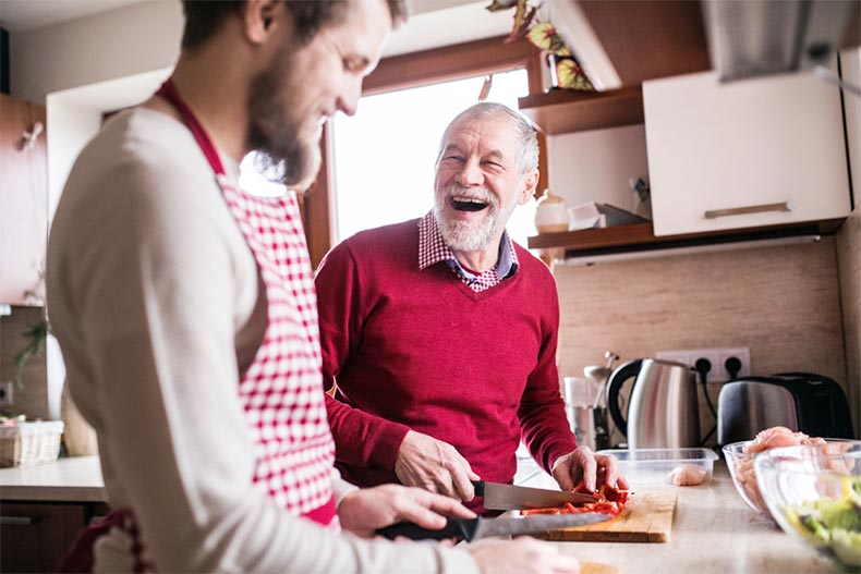
[[[517,135],[505,115],[451,126],[437,163],[434,207],[449,247],[474,252],[499,243],[511,212],[531,193],[517,152]]]

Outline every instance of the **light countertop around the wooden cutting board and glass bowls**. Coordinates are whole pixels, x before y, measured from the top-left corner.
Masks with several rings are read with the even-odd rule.
[[[555,481],[546,473],[541,473],[521,484],[553,488]],[[736,491],[723,461],[715,464],[711,484],[679,487],[676,490],[678,501],[669,542],[549,544],[583,562],[613,564],[622,574],[840,572],[826,559],[748,508]]]

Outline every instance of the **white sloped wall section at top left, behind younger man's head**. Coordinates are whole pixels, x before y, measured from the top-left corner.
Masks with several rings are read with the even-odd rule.
[[[182,24],[179,0],[159,0],[10,34],[10,91],[45,103],[52,91],[172,66]]]

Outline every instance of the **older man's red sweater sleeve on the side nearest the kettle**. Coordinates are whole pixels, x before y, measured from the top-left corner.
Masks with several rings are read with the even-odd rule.
[[[544,269],[541,269],[544,271]],[[550,472],[553,463],[577,448],[577,439],[568,426],[565,402],[559,393],[556,346],[559,333],[559,300],[556,288],[543,290],[542,342],[535,369],[530,374],[518,416],[523,442],[541,466]]]

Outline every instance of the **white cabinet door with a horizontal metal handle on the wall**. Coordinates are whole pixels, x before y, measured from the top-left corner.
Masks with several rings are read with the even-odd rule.
[[[643,83],[655,235],[845,218],[839,89],[811,74]]]

